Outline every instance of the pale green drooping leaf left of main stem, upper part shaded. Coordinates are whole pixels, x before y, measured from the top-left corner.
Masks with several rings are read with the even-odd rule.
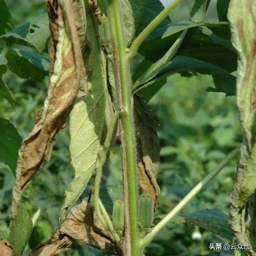
[[[70,158],[75,176],[66,191],[62,209],[67,208],[79,198],[96,168],[100,140],[105,118],[106,63],[102,59],[102,50],[96,38],[92,14],[87,16],[88,30],[86,42],[89,47],[88,69],[85,77],[86,90],[76,100],[70,113]],[[86,70],[87,71],[87,70]],[[64,214],[64,213],[63,213]],[[62,218],[64,216],[62,215]]]

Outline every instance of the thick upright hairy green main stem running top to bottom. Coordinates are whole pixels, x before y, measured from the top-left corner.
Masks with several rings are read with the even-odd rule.
[[[132,256],[140,256],[140,248],[138,246],[140,234],[138,229],[138,187],[136,175],[136,147],[134,135],[134,122],[132,118],[131,106],[131,89],[129,64],[124,43],[124,34],[122,30],[122,18],[120,16],[120,7],[118,0],[108,1],[108,18],[110,21],[111,36],[114,44],[114,51],[117,56],[118,67],[120,70],[120,92],[119,105],[123,109],[121,114],[121,124],[123,129],[123,172],[127,177],[127,187],[124,192],[128,198],[128,216],[129,229],[126,232],[130,235],[130,253]],[[127,234],[127,233],[126,233]]]

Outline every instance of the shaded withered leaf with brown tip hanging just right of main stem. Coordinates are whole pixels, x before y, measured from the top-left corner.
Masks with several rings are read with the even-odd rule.
[[[142,190],[152,196],[156,210],[160,196],[160,188],[156,182],[160,158],[157,124],[146,103],[136,94],[134,111],[137,128],[138,180]]]

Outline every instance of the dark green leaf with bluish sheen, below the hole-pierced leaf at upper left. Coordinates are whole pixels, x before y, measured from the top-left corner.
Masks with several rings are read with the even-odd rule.
[[[48,75],[50,60],[39,54],[12,48],[7,54],[8,68],[20,78],[41,82]]]

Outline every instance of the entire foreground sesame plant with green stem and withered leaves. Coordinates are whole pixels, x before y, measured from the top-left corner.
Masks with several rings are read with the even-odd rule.
[[[78,240],[108,254],[140,256],[170,221],[250,244],[237,255],[256,255],[256,2],[218,0],[219,21],[204,22],[210,0],[190,0],[190,20],[173,24],[169,14],[182,2],[172,0],[164,8],[159,0],[46,0],[47,13],[13,28],[0,0],[0,96],[15,104],[2,80],[7,68],[36,81],[48,76],[44,106],[26,138],[0,118],[0,158],[15,176],[9,232],[0,232],[1,256],[24,254],[41,210],[31,218],[23,194],[50,160],[55,137],[67,123],[74,176],[58,229],[29,255],[58,255]],[[160,202],[160,145],[147,102],[177,73],[209,75],[208,91],[236,95],[244,140],[168,214],[154,216]],[[123,190],[116,192],[110,211],[102,201],[102,170],[117,142]],[[238,154],[229,220],[216,210],[179,215]],[[82,198],[91,179],[94,186]]]

